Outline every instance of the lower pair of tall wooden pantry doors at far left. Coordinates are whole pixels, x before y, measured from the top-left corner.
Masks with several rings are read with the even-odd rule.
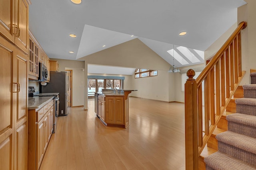
[[[27,169],[27,70],[27,54],[0,36],[1,169]]]

